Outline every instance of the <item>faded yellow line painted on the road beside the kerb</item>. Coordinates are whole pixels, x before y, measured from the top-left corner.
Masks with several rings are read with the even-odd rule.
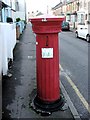
[[[64,71],[64,69],[62,68],[62,66],[59,64],[59,68],[61,69],[61,71]],[[79,89],[77,88],[77,86],[73,83],[73,81],[71,80],[71,78],[66,74],[65,77],[67,78],[68,82],[70,83],[70,85],[72,86],[73,90],[75,91],[75,93],[78,95],[79,99],[81,100],[81,102],[83,103],[83,105],[85,106],[85,108],[88,110],[88,112],[90,113],[90,105],[88,104],[88,102],[85,100],[85,98],[83,97],[83,95],[80,93]]]

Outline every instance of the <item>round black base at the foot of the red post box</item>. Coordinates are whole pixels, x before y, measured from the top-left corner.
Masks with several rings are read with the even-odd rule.
[[[33,102],[34,102],[36,109],[40,109],[46,112],[54,112],[54,111],[60,110],[64,106],[64,103],[65,103],[62,96],[60,97],[60,99],[54,102],[45,102],[36,96]]]

